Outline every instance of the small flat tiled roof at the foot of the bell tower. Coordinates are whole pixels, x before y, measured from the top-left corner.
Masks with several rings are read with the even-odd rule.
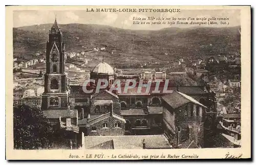
[[[59,117],[67,118],[75,118],[77,117],[77,110],[45,110],[43,113],[46,115],[49,119],[58,119]]]

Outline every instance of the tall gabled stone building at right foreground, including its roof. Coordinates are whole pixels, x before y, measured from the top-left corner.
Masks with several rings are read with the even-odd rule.
[[[202,147],[207,107],[177,90],[163,96],[162,105],[163,129],[169,141],[181,148],[191,143],[195,143],[195,148]]]

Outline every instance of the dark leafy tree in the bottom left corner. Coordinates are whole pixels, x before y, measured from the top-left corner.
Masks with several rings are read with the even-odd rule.
[[[13,127],[15,149],[39,149],[51,145],[53,128],[37,107],[14,107]]]

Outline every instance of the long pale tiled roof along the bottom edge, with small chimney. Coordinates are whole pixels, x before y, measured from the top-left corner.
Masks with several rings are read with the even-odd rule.
[[[146,148],[171,148],[164,135],[85,136],[85,148],[142,149],[143,139],[145,139]]]

